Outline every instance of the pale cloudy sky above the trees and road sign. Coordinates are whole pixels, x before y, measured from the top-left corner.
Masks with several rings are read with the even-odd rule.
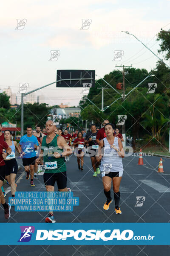
[[[28,92],[56,81],[62,69],[96,70],[101,77],[118,69],[116,64],[150,71],[156,56],[121,31],[159,55],[156,34],[170,29],[169,10],[170,0],[1,1],[0,87],[17,93],[19,83],[28,83]],[[16,29],[17,19],[26,20],[23,29]],[[88,29],[81,29],[82,19],[91,19]],[[49,61],[52,50],[60,51],[57,61]],[[123,51],[120,61],[113,60],[114,51]],[[44,95],[49,105],[77,106],[83,93],[53,84],[36,95]]]

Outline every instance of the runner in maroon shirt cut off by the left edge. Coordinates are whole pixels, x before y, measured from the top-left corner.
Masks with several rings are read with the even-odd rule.
[[[6,149],[6,152],[3,152],[3,149]],[[5,162],[3,159],[6,158],[9,154],[11,154],[11,147],[4,141],[4,136],[2,133],[2,124],[0,123],[0,204],[2,204],[4,208],[4,215],[6,219],[10,217],[11,205],[6,204],[2,192],[3,181],[6,176]]]

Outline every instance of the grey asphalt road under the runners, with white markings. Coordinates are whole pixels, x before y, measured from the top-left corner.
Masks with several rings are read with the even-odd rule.
[[[79,206],[74,207],[73,212],[55,212],[57,222],[170,222],[170,159],[163,159],[164,173],[157,173],[160,157],[143,157],[143,166],[136,165],[138,157],[123,159],[122,215],[113,212],[114,204],[108,211],[103,209],[106,199],[101,175],[93,177],[90,158],[84,157],[84,160],[83,171],[78,170],[74,155],[66,163],[68,187],[79,197]],[[22,167],[17,174],[17,191],[45,191],[42,176],[34,182],[35,187],[30,186],[25,176]],[[57,186],[55,189],[57,191]],[[113,196],[113,191],[111,194]],[[10,195],[8,192],[6,201]],[[145,197],[142,207],[135,207],[136,197]],[[47,212],[15,212],[12,207],[7,222],[44,222],[46,216]],[[2,207],[0,222],[6,222]],[[3,256],[160,256],[160,253],[170,255],[170,246],[0,246]]]

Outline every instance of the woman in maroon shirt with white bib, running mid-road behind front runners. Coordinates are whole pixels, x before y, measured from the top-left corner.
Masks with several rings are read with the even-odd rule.
[[[83,157],[85,154],[85,149],[84,149],[84,144],[85,140],[82,137],[82,132],[79,131],[77,134],[77,139],[74,140],[73,146],[75,147],[75,152],[77,155],[77,163],[78,163],[78,168],[79,170],[81,169],[83,171]],[[81,160],[81,168],[80,168],[80,160]]]

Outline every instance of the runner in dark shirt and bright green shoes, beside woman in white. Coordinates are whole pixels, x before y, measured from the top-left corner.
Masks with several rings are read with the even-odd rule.
[[[94,169],[94,174],[93,177],[97,177],[97,175],[100,173],[99,169],[99,163],[96,160],[96,153],[98,151],[99,145],[96,143],[96,125],[92,124],[91,125],[91,131],[86,134],[85,137],[85,144],[89,144],[88,146],[88,154],[91,157],[91,164]]]

